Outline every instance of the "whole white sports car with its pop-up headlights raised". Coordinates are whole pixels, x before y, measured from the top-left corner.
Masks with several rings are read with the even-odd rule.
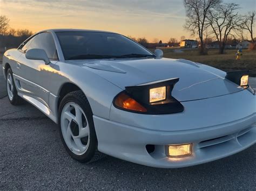
[[[6,51],[3,73],[9,101],[24,99],[59,124],[80,162],[109,154],[177,168],[255,144],[247,72],[162,57],[117,33],[46,30]]]

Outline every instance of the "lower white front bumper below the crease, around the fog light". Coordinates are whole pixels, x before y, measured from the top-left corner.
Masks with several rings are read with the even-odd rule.
[[[152,167],[198,165],[227,157],[256,143],[255,115],[198,131],[180,132],[144,130],[96,116],[93,119],[95,125],[101,127],[96,130],[100,152]],[[181,159],[167,157],[165,146],[178,143],[192,143],[192,155]],[[155,145],[154,152],[146,150],[148,144]]]

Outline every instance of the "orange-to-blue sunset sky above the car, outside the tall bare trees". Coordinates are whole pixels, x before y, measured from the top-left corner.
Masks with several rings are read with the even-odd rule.
[[[256,10],[256,0],[224,2],[239,4],[240,13]],[[150,41],[193,38],[183,29],[183,0],[0,0],[0,15],[10,19],[10,27],[33,32],[77,28],[113,31]]]

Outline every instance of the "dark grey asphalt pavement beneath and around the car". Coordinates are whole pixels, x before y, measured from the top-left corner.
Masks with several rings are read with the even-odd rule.
[[[2,68],[2,65],[0,65]],[[255,78],[250,79],[256,87]],[[256,189],[256,145],[207,164],[160,169],[113,157],[80,164],[65,152],[58,126],[29,103],[8,102],[0,71],[0,189]]]

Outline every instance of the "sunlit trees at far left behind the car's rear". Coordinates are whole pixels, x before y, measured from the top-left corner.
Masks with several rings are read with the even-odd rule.
[[[0,15],[0,47],[16,48],[29,38],[33,32],[28,29],[12,29],[10,19]]]

